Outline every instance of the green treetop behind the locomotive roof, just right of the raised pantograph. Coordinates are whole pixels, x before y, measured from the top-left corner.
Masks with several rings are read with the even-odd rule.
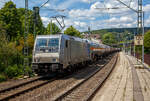
[[[64,31],[64,33],[67,34],[67,35],[71,35],[71,36],[81,37],[80,32],[77,29],[75,29],[73,26],[68,27]]]

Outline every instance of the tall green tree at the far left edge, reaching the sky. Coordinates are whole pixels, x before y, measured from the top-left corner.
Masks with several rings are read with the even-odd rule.
[[[21,22],[19,19],[16,5],[12,1],[7,2],[0,10],[0,21],[4,22],[6,32],[11,39],[20,33]]]

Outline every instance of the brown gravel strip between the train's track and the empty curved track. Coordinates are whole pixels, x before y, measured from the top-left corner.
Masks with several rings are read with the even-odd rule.
[[[73,86],[79,84],[91,75],[94,75],[95,72],[107,64],[111,58],[112,56],[108,56],[103,60],[99,60],[88,67],[72,73],[71,75],[67,75],[66,77],[50,82],[29,93],[25,93],[22,96],[11,99],[11,101],[54,101]]]

